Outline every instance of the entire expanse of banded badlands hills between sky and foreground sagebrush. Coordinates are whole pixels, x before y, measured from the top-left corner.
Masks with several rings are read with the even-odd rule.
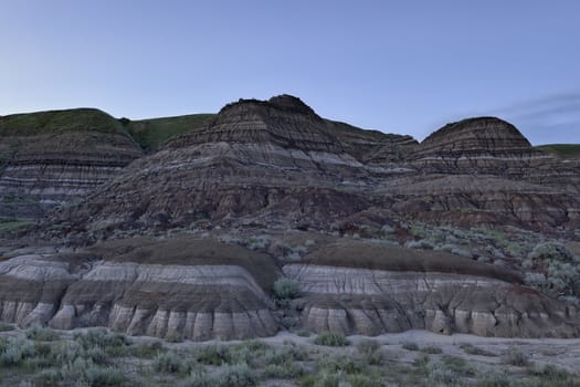
[[[2,231],[1,321],[580,336],[579,159],[495,117],[418,143],[288,95],[181,122],[144,146],[98,111],[0,117],[0,216],[35,222]]]

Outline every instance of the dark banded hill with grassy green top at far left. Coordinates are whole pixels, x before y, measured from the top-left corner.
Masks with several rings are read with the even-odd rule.
[[[0,216],[38,218],[109,180],[143,151],[122,125],[95,109],[0,118]]]

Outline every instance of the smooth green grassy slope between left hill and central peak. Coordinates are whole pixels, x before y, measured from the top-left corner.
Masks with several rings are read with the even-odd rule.
[[[177,117],[130,121],[126,127],[140,146],[148,151],[156,150],[169,138],[207,126],[215,114],[191,114]]]

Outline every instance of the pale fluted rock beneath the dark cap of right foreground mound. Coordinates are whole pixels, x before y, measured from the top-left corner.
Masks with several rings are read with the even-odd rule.
[[[578,311],[528,287],[451,273],[286,265],[306,294],[304,324],[317,332],[378,335],[424,328],[506,337],[573,337]],[[557,326],[553,331],[550,327]]]

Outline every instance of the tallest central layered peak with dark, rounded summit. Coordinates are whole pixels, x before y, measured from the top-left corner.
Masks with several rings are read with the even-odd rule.
[[[59,215],[103,229],[328,224],[369,206],[369,169],[299,100],[242,101]],[[91,219],[91,221],[88,221]],[[88,223],[88,224],[87,224]]]

